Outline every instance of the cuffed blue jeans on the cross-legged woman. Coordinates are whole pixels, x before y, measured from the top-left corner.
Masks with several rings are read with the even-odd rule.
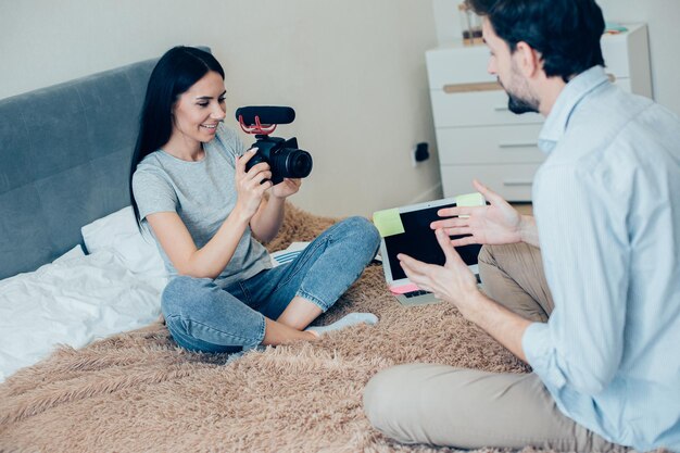
[[[350,217],[324,231],[298,257],[221,288],[210,278],[171,280],[161,307],[175,341],[191,351],[238,352],[262,343],[265,317],[277,319],[295,295],[326,312],[362,275],[380,236]]]

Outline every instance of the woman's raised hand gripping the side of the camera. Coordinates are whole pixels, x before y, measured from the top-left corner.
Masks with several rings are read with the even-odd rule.
[[[269,165],[261,162],[245,172],[245,164],[257,152],[256,148],[245,151],[242,156],[236,158],[236,191],[238,200],[237,207],[251,218],[257,212],[264,192],[272,187],[272,171]]]

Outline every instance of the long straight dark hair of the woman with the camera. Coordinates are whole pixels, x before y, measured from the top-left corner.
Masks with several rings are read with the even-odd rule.
[[[139,118],[139,135],[130,161],[128,189],[135,218],[140,225],[139,207],[133,193],[133,175],[137,165],[150,153],[169,141],[173,133],[173,106],[179,96],[214,71],[224,79],[224,70],[215,58],[204,50],[177,46],[156,63],[151,72],[147,96]]]

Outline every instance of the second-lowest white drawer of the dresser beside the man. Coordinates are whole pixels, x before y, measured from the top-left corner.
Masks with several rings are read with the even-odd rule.
[[[542,124],[448,127],[437,129],[441,165],[541,163],[538,148]]]

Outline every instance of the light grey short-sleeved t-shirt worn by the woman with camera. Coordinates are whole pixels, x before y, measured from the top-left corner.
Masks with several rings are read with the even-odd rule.
[[[216,137],[203,144],[205,156],[187,162],[163,150],[147,155],[133,175],[133,192],[144,230],[147,215],[176,212],[187,226],[197,248],[202,248],[217,232],[237,200],[236,156],[245,149],[237,134],[221,124]],[[154,236],[155,239],[155,236]],[[156,246],[171,276],[177,275],[165,251]],[[244,280],[272,267],[266,249],[251,236],[250,227],[241,237],[234,256],[215,279],[222,287]]]

